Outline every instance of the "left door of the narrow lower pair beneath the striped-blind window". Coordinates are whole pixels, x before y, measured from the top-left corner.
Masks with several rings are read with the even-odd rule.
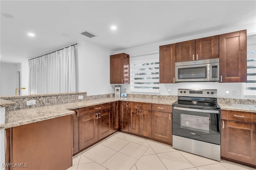
[[[129,132],[139,134],[139,109],[129,109]]]

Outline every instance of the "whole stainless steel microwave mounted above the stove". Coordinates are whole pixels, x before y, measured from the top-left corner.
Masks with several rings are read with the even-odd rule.
[[[204,59],[175,63],[176,82],[219,81],[219,59]]]

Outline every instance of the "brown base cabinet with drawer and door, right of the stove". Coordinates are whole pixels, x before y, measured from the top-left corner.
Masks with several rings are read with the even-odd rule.
[[[222,159],[256,167],[256,113],[221,111]]]

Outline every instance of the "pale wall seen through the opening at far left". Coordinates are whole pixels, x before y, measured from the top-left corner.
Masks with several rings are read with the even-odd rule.
[[[20,63],[0,63],[0,95],[15,95]]]

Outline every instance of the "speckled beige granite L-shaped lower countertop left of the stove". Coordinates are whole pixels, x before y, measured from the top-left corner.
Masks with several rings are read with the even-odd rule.
[[[156,103],[156,104],[166,104],[172,105],[176,100],[167,99],[144,99],[144,98],[120,98],[120,97],[107,97],[100,99],[92,99],[81,102],[65,103],[59,105],[43,106],[30,109],[20,109],[10,111],[8,113],[8,119],[6,123],[0,125],[0,129],[16,127],[20,125],[26,125],[29,123],[35,123],[38,121],[44,121],[47,119],[52,119],[56,117],[62,117],[66,115],[71,115],[74,111],[72,109],[78,109],[82,107],[99,105],[102,103],[108,103],[113,101],[133,101],[133,102],[143,102],[143,103]]]

